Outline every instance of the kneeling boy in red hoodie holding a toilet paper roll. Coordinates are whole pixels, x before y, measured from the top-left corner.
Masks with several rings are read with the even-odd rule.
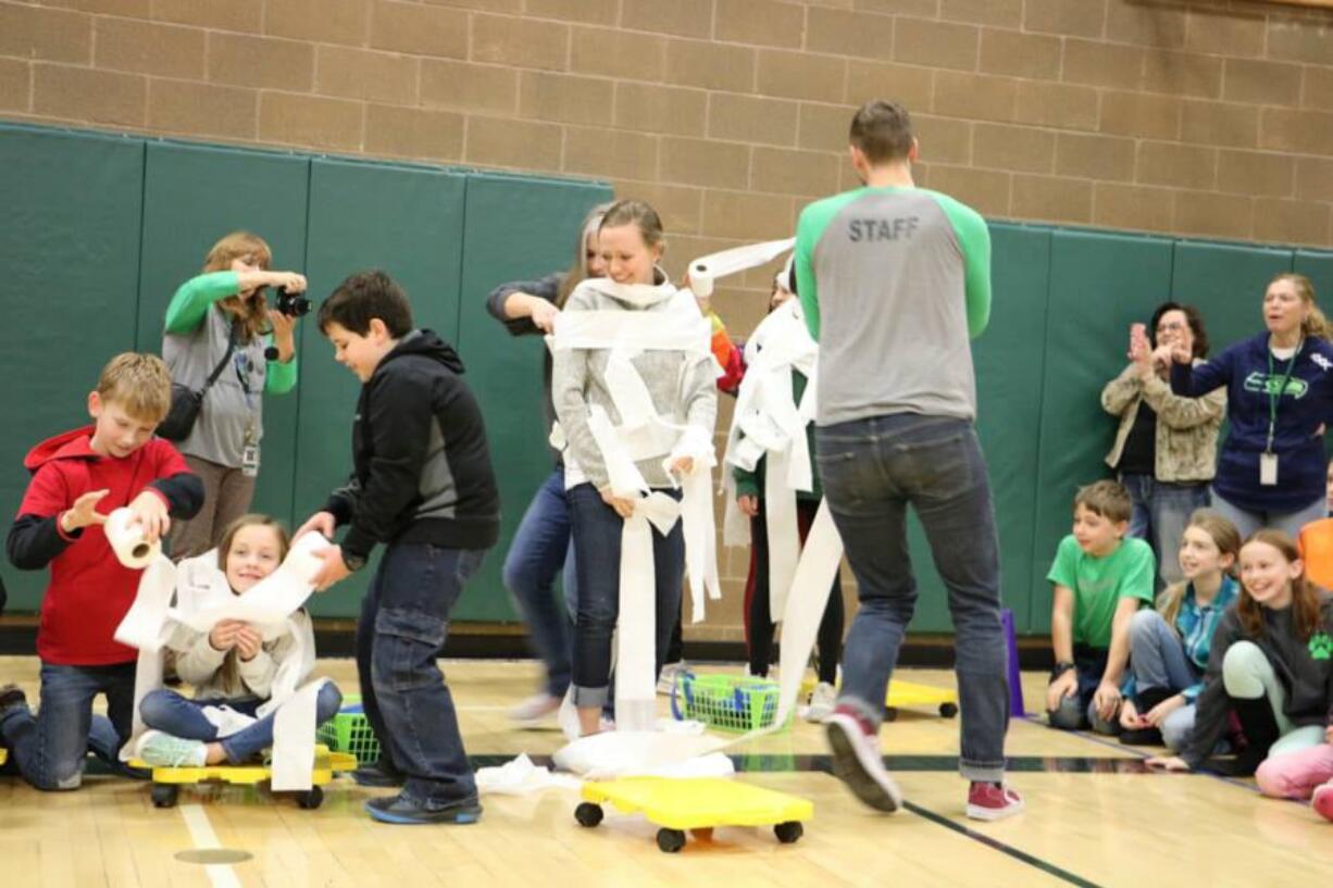
[[[153,355],[117,355],[88,395],[93,425],[57,435],[24,459],[32,481],[9,528],[9,561],[51,565],[37,655],[41,708],[0,692],[0,743],[39,789],[76,789],[89,745],[116,760],[129,737],[137,651],[115,640],[139,589],[140,571],[116,560],[101,525],[128,507],[149,541],[171,517],[189,519],[204,487],[169,443],[153,437],[171,407],[171,373]],[[92,715],[107,696],[109,721]]]

